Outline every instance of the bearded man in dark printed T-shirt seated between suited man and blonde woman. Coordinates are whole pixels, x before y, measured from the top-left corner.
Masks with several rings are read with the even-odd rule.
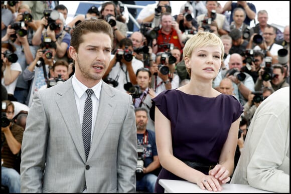
[[[156,146],[156,135],[147,129],[148,110],[136,108],[135,121],[137,129],[137,167],[136,191],[154,192],[157,175],[160,172],[160,161]]]

